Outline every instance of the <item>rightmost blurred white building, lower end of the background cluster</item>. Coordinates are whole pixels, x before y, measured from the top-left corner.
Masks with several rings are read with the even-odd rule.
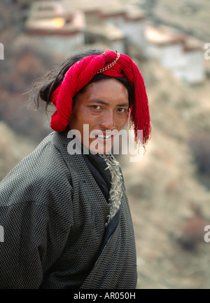
[[[205,79],[202,47],[195,39],[176,34],[166,27],[146,27],[148,55],[158,58],[164,67],[182,81],[201,83]]]

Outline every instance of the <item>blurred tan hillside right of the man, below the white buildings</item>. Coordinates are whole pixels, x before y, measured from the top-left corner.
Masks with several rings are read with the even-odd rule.
[[[188,144],[196,144],[200,136],[208,143],[207,167],[210,83],[184,86],[157,62],[146,69],[153,78],[147,86],[151,142],[141,162],[122,159],[138,239],[138,288],[210,288],[209,243],[204,242],[204,226],[210,222],[209,182],[200,182]],[[202,154],[203,147],[198,144],[197,149]]]

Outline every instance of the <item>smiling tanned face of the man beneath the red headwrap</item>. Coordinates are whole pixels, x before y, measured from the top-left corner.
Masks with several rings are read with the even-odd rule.
[[[113,146],[114,136],[127,121],[128,92],[123,83],[106,79],[90,83],[85,93],[76,96],[69,126],[79,130],[81,143],[90,151],[103,154]],[[89,126],[84,131],[83,125]]]

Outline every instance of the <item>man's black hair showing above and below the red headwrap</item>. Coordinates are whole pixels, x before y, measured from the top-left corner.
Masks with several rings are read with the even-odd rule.
[[[88,49],[84,50],[83,52],[76,53],[69,57],[62,65],[59,67],[54,67],[50,70],[43,78],[39,79],[38,81],[34,82],[31,90],[29,90],[29,94],[33,96],[34,103],[36,105],[36,109],[38,109],[40,102],[45,103],[45,110],[47,112],[48,106],[52,104],[51,96],[52,93],[56,90],[57,86],[59,86],[60,83],[62,83],[62,80],[64,79],[64,76],[66,72],[69,70],[69,68],[74,65],[79,60],[82,60],[83,58],[90,56],[90,55],[100,55],[104,53],[104,50],[98,50],[98,49]],[[125,88],[127,88],[128,94],[129,94],[129,101],[132,100],[133,91],[130,87],[130,81],[126,78],[121,77],[113,77],[113,76],[106,76],[104,74],[96,74],[88,84],[95,82],[95,81],[101,81],[104,79],[117,79],[123,85]],[[86,86],[84,86],[78,93],[84,93]],[[77,94],[78,94],[77,93]],[[73,104],[75,97],[73,97]]]

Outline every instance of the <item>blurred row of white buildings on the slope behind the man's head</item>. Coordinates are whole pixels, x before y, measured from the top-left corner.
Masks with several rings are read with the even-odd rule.
[[[26,29],[33,39],[64,55],[87,44],[101,43],[141,60],[157,58],[186,83],[205,79],[200,44],[167,27],[146,25],[141,9],[132,2],[122,5],[120,0],[36,0]]]

